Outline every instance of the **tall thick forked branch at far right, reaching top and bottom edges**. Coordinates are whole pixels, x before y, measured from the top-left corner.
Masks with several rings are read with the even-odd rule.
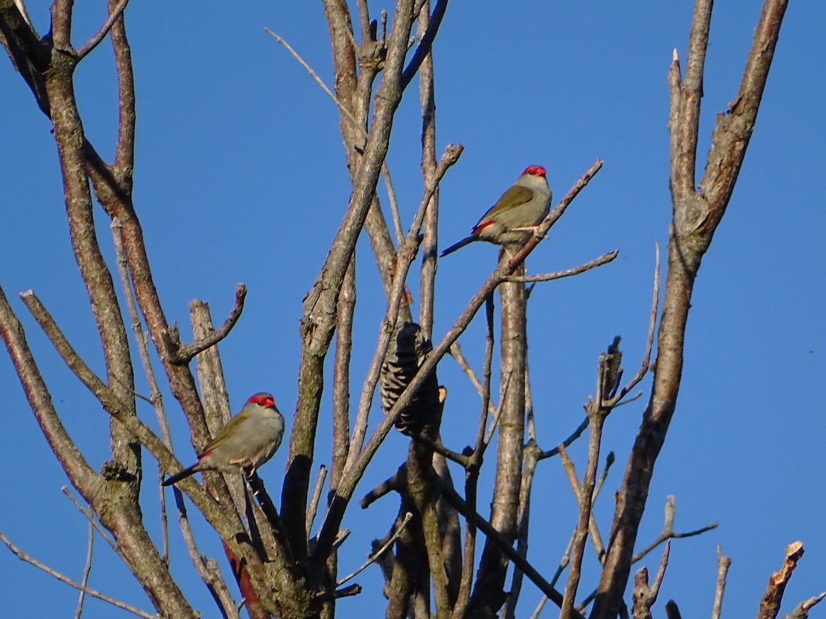
[[[614,619],[619,610],[628,581],[634,541],[648,499],[653,461],[662,448],[676,408],[695,277],[743,163],[786,11],[786,0],[765,0],[763,3],[738,97],[729,107],[729,114],[718,116],[700,191],[694,188],[695,166],[691,162],[695,161],[695,154],[686,154],[686,149],[695,150],[696,146],[696,140],[691,136],[695,135],[694,127],[699,122],[699,87],[711,2],[697,0],[695,7],[686,80],[680,82],[676,54],[668,73],[672,101],[668,127],[672,136],[673,220],[668,242],[666,293],[657,341],[657,371],[643,423],[617,494],[610,535],[613,542],[601,574],[592,619]],[[684,97],[694,98],[687,104]]]

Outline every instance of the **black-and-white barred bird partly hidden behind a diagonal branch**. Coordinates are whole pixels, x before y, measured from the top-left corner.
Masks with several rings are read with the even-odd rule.
[[[379,383],[385,414],[390,412],[393,404],[405,392],[432,350],[433,345],[421,333],[418,324],[402,323],[396,327],[396,333],[393,333],[390,346],[387,347]],[[439,380],[434,371],[416,391],[411,404],[396,419],[396,429],[408,435],[425,432],[435,438],[439,432],[441,416]]]

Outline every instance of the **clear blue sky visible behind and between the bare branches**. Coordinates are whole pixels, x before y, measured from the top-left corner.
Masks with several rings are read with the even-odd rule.
[[[373,2],[373,11],[382,8]],[[29,2],[40,32],[46,2]],[[654,239],[665,243],[668,194],[666,72],[674,47],[685,58],[692,2],[451,2],[434,46],[439,149],[466,150],[442,185],[439,234],[446,246],[468,228],[526,165],[548,168],[556,196],[596,158],[605,168],[529,259],[531,272],[571,267],[618,248],[619,258],[572,280],[540,285],[529,308],[529,359],[539,442],[553,447],[577,426],[591,394],[596,357],[623,336],[625,366],[642,355],[651,295]],[[104,2],[76,7],[74,44],[105,19]],[[700,169],[715,114],[737,90],[760,2],[718,2],[711,28],[700,125]],[[349,182],[338,112],[304,69],[272,38],[289,40],[330,83],[330,51],[320,2],[133,2],[126,10],[135,62],[138,134],[135,206],[156,284],[170,321],[188,332],[187,301],[210,303],[216,321],[230,309],[235,283],[249,287],[246,309],[221,353],[234,409],[272,390],[288,423],[296,397],[301,298],[322,264],[344,212]],[[688,325],[686,366],[676,415],[651,487],[638,546],[662,527],[667,495],[676,495],[676,529],[719,522],[704,536],[676,541],[655,606],[669,598],[684,617],[706,616],[714,596],[715,545],[733,559],[724,616],[749,617],[784,548],[806,555],[786,590],[785,612],[826,589],[824,532],[824,166],[822,45],[826,5],[792,0],[763,97],[757,129],[733,199],[705,257]],[[109,158],[116,135],[116,89],[107,44],[77,72],[89,139]],[[33,288],[72,343],[102,369],[88,299],[72,257],[50,122],[11,64],[0,62],[0,283],[26,325],[31,346],[64,422],[89,461],[107,459],[106,414],[78,385],[17,299]],[[419,102],[407,92],[396,116],[388,164],[409,224],[420,201]],[[97,213],[109,258],[107,218]],[[366,241],[359,245],[354,394],[370,358],[384,301]],[[439,264],[434,336],[452,324],[496,262],[482,243]],[[112,262],[114,265],[114,262]],[[411,289],[418,296],[415,276]],[[461,343],[481,368],[483,324]],[[188,339],[188,338],[187,338]],[[452,360],[439,366],[450,396],[444,441],[472,442],[479,402]],[[139,378],[139,390],[146,390]],[[645,397],[650,381],[643,383]],[[60,493],[67,483],[32,418],[11,363],[0,355],[0,529],[24,550],[79,579],[87,522]],[[329,396],[329,393],[328,393]],[[596,508],[603,536],[644,399],[618,409],[604,453],[617,463]],[[175,449],[192,457],[183,415],[167,394]],[[154,423],[148,405],[144,418]],[[329,462],[329,401],[318,454]],[[378,414],[378,413],[375,413]],[[377,423],[373,418],[373,425]],[[579,473],[584,441],[571,448]],[[278,494],[285,451],[263,470]],[[358,495],[390,475],[406,440],[395,432],[369,467]],[[492,457],[489,456],[492,465]],[[149,458],[147,478],[154,477]],[[490,473],[490,471],[488,471]],[[483,476],[482,487],[491,485]],[[171,495],[170,495],[171,496]],[[489,500],[480,497],[480,505]],[[340,566],[361,564],[369,541],[392,523],[387,497],[368,517],[354,505],[353,535]],[[558,460],[545,461],[534,484],[529,559],[553,574],[576,521]],[[148,481],[145,520],[159,531],[156,491]],[[221,561],[215,536],[199,544]],[[172,526],[173,572],[205,617],[216,616]],[[659,550],[645,564],[655,569]],[[585,593],[596,560],[586,555]],[[77,592],[0,549],[0,614],[69,617]],[[365,592],[339,602],[339,617],[381,617],[381,577],[358,577]],[[151,610],[128,571],[100,539],[90,585]],[[520,617],[539,593],[526,583]],[[84,617],[126,617],[89,599]],[[556,617],[547,607],[543,617]],[[812,617],[826,617],[817,607]]]

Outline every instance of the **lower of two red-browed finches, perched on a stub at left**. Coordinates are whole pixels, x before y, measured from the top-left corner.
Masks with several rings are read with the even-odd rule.
[[[198,461],[164,481],[165,486],[177,484],[199,470],[220,470],[237,473],[251,467],[257,469],[273,457],[284,437],[284,417],[268,393],[251,396],[240,413],[221,428]]]

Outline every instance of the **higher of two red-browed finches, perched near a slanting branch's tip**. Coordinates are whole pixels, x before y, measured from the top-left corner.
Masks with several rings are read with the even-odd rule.
[[[496,204],[473,226],[470,236],[442,252],[442,258],[473,241],[510,243],[536,231],[551,210],[551,190],[545,168],[528,166],[513,187],[502,194]]]

